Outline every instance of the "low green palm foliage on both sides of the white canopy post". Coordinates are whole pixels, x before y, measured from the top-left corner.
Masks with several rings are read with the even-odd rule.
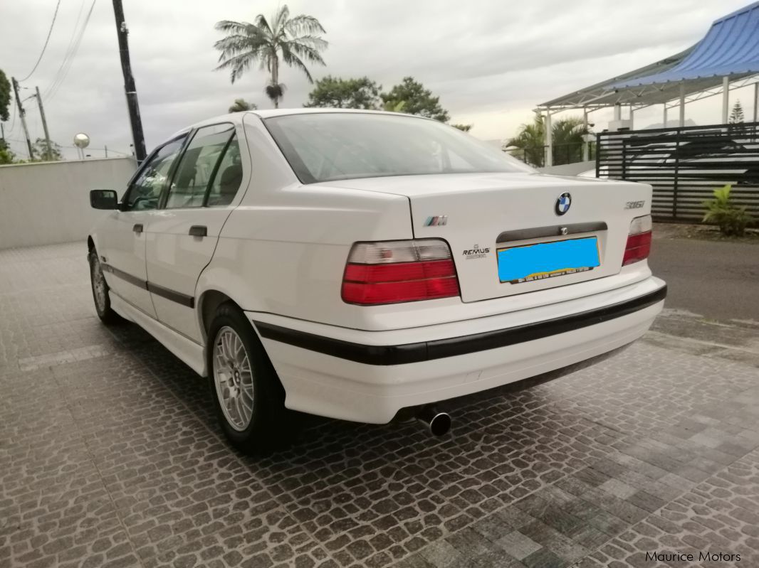
[[[588,133],[579,117],[567,117],[553,122],[553,165],[572,164],[581,161],[584,136]],[[505,151],[534,167],[543,167],[546,154],[546,126],[543,117],[535,115],[532,124],[522,124],[517,136],[506,141]]]

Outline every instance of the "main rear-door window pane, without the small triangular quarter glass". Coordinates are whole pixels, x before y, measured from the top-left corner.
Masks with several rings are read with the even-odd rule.
[[[179,162],[168,189],[167,209],[202,207],[206,190],[235,126],[229,123],[197,130]]]

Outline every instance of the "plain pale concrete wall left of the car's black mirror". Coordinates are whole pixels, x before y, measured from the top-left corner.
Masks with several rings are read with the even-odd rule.
[[[136,168],[132,158],[0,166],[0,249],[87,239],[102,215],[90,189],[121,198]]]

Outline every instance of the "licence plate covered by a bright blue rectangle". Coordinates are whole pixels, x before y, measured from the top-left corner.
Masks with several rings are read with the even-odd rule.
[[[597,237],[499,248],[498,278],[519,284],[593,270],[600,266]]]

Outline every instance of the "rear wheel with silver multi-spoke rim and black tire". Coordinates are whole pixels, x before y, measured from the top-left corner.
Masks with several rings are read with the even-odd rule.
[[[235,304],[222,304],[206,348],[211,397],[229,442],[246,454],[282,448],[297,428],[285,389],[253,326]]]

